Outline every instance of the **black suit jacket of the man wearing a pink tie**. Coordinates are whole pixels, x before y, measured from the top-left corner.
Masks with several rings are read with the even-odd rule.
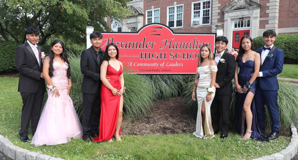
[[[40,78],[43,72],[40,52],[43,51],[43,48],[37,46],[37,50],[39,53],[39,64],[28,42],[16,48],[16,69],[20,72],[18,91],[21,93],[36,93],[39,87],[41,87],[43,92],[46,90],[44,79]]]

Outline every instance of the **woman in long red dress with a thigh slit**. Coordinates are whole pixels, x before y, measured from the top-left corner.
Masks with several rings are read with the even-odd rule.
[[[111,143],[113,136],[117,141],[121,141],[124,78],[123,65],[118,61],[118,57],[118,47],[114,43],[108,44],[100,67],[102,86],[99,135],[94,137],[93,142],[109,141]],[[106,79],[106,76],[110,78],[110,81]]]

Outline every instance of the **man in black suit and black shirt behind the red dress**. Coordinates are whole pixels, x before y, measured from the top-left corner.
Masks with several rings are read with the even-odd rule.
[[[100,119],[100,64],[102,62],[104,51],[101,49],[102,33],[93,32],[90,34],[92,46],[81,54],[81,72],[84,75],[82,82],[83,92],[83,140],[92,141],[96,137],[99,128]]]

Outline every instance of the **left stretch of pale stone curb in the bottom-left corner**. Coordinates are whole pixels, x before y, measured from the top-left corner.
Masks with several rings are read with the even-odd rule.
[[[11,159],[15,160],[63,160],[62,158],[55,158],[45,154],[30,152],[13,145],[7,138],[0,135],[0,152]]]

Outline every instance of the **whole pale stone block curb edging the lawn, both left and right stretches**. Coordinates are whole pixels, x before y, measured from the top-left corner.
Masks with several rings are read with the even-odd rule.
[[[298,150],[298,134],[294,123],[291,124],[292,138],[288,147],[279,153],[274,153],[269,156],[255,158],[253,160],[291,160]],[[16,160],[63,160],[62,158],[55,158],[45,154],[30,152],[13,145],[7,138],[0,135],[0,152],[4,153],[11,159]]]

